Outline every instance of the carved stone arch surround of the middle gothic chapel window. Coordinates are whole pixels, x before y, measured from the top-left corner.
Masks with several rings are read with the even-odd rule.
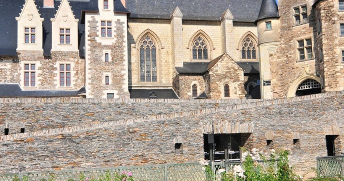
[[[201,38],[205,41],[205,43],[207,44],[207,47],[208,47],[208,59],[207,60],[212,60],[212,52],[213,50],[215,50],[215,47],[214,47],[214,44],[213,44],[213,41],[212,39],[210,38],[210,36],[205,33],[203,30],[198,30],[197,32],[195,32],[190,40],[189,40],[189,44],[187,46],[187,49],[190,50],[190,60],[192,60],[192,47],[193,47],[193,44],[195,42],[195,40],[201,36]]]

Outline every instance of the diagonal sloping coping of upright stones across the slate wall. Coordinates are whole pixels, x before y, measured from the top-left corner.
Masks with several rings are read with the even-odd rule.
[[[221,107],[204,108],[204,109],[199,109],[199,110],[159,114],[155,116],[144,116],[144,117],[138,117],[138,118],[129,118],[129,119],[123,119],[123,120],[116,120],[116,121],[107,121],[107,122],[102,122],[102,123],[67,126],[63,128],[53,128],[53,129],[46,129],[46,130],[40,130],[40,131],[25,132],[25,133],[20,133],[20,134],[3,135],[3,136],[0,136],[0,141],[18,140],[18,139],[23,139],[23,138],[28,138],[28,137],[35,137],[35,136],[51,136],[51,135],[65,134],[69,132],[84,131],[84,130],[90,130],[90,129],[99,129],[99,128],[105,128],[105,127],[111,127],[111,126],[132,125],[134,123],[142,123],[142,122],[148,122],[148,121],[154,121],[154,120],[172,119],[176,117],[209,114],[209,113],[216,113],[219,111],[253,108],[253,107],[258,107],[258,106],[278,105],[278,104],[299,102],[303,100],[333,97],[333,96],[338,96],[338,95],[344,95],[344,91],[313,94],[313,95],[308,95],[308,96],[282,98],[282,99],[261,100],[261,101],[252,102],[252,103],[243,103],[243,104],[235,104],[235,105],[228,105],[228,106],[221,106]]]

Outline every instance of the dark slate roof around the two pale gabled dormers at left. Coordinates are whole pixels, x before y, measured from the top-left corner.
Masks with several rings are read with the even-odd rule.
[[[129,13],[126,10],[120,0],[115,1],[116,12]],[[76,19],[78,22],[78,46],[80,56],[85,56],[85,24],[82,19],[82,12],[84,11],[98,11],[97,0],[68,0]],[[50,18],[54,18],[58,6],[60,6],[61,0],[55,0],[55,8],[43,8],[43,0],[36,0],[35,4],[41,14],[43,21],[43,51],[44,55],[51,55],[51,21]],[[2,35],[0,41],[0,55],[11,55],[17,54],[17,32],[18,23],[15,17],[19,16],[21,9],[25,4],[25,0],[0,0],[0,34]]]

